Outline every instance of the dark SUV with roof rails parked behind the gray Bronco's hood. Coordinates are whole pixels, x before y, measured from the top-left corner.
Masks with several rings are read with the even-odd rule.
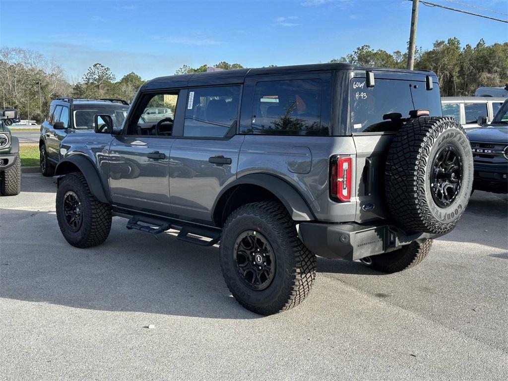
[[[96,114],[111,115],[123,122],[129,103],[121,99],[57,98],[51,101],[48,117],[41,123],[39,138],[40,166],[44,176],[52,176],[60,160],[60,142],[68,134],[93,131]]]

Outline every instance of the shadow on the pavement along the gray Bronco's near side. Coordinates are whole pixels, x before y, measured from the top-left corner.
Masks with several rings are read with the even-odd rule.
[[[129,232],[113,219],[100,246],[63,239],[54,212],[0,210],[0,297],[106,311],[220,319],[262,317],[230,295],[218,249]]]

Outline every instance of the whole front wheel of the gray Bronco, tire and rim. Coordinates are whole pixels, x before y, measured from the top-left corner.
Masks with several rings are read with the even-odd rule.
[[[111,230],[111,207],[93,197],[80,172],[69,173],[60,181],[56,218],[63,237],[76,247],[100,245]]]

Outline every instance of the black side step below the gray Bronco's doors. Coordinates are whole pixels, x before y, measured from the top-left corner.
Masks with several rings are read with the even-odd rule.
[[[149,224],[150,226],[141,225],[139,224],[140,222],[144,224]],[[153,226],[156,226],[156,228],[154,228]],[[214,244],[220,241],[220,230],[218,229],[213,228],[207,229],[204,227],[190,225],[182,226],[181,224],[177,223],[170,223],[164,220],[149,217],[141,217],[137,215],[132,216],[129,219],[126,228],[129,230],[135,229],[151,234],[160,234],[170,229],[179,230],[178,235],[176,237],[177,239],[185,242],[194,243],[200,246],[213,246]],[[210,238],[211,240],[206,241],[204,239],[200,239],[197,237],[189,237],[188,236],[189,234]]]

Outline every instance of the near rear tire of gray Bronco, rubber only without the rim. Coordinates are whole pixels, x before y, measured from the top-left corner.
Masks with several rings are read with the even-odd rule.
[[[249,230],[269,241],[276,260],[273,280],[260,291],[244,284],[234,261],[235,241]],[[223,228],[219,257],[231,294],[242,306],[261,315],[297,306],[309,294],[315,279],[315,255],[298,238],[288,211],[276,202],[246,204],[233,211]]]

